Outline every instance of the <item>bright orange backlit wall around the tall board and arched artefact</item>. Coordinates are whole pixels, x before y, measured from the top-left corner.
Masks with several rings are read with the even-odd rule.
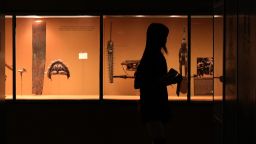
[[[17,18],[16,21],[16,67],[17,70],[26,69],[22,81],[17,72],[17,95],[21,91],[23,95],[32,95],[32,24],[36,20],[38,19]],[[41,20],[46,23],[46,66],[42,95],[99,95],[99,17]],[[11,19],[6,20],[6,25],[5,59],[6,63],[11,64]],[[79,59],[81,52],[88,53],[88,59]],[[57,59],[62,60],[69,68],[69,79],[65,75],[53,75],[52,79],[47,77],[48,67]],[[6,95],[11,95],[12,71],[6,71]]]

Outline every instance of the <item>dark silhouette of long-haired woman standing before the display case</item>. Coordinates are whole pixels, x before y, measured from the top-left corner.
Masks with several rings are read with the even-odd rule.
[[[146,47],[135,72],[135,88],[140,89],[140,111],[153,144],[164,144],[164,125],[169,119],[166,41],[169,29],[152,23],[147,29]]]

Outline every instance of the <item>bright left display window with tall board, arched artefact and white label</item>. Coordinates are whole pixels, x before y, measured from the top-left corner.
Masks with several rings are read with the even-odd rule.
[[[99,99],[99,25],[99,16],[17,16],[17,99]]]

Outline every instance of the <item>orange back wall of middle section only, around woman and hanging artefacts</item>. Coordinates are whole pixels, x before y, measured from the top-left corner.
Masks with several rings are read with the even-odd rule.
[[[104,94],[105,95],[138,95],[133,87],[133,79],[115,78],[109,83],[107,41],[110,39],[112,23],[112,40],[114,42],[114,75],[125,74],[121,66],[124,60],[140,60],[146,42],[147,27],[152,22],[163,23],[169,28],[167,40],[168,68],[178,70],[178,53],[181,46],[183,29],[187,31],[187,18],[170,17],[107,17],[104,19]],[[187,35],[186,35],[187,36]],[[133,75],[133,73],[130,73]],[[176,86],[169,86],[169,95],[176,95]]]

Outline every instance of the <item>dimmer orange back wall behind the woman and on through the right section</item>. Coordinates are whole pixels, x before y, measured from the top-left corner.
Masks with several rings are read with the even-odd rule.
[[[114,42],[114,75],[124,75],[121,62],[124,60],[139,60],[143,54],[146,41],[146,30],[150,23],[165,24],[169,30],[167,40],[168,54],[166,60],[168,68],[179,70],[178,53],[183,37],[183,28],[187,32],[187,18],[161,17],[106,17],[104,19],[104,94],[105,95],[138,95],[133,87],[133,79],[114,78],[109,83],[107,42],[110,39],[110,24],[112,23],[112,41]],[[210,18],[193,18],[191,25],[191,74],[196,74],[196,58],[213,56],[213,25]],[[218,23],[221,24],[221,23]],[[221,29],[220,29],[221,30]],[[187,34],[186,34],[187,37]],[[222,38],[221,38],[222,39]],[[221,42],[218,42],[221,45]],[[221,54],[222,47],[216,47],[215,55]],[[220,58],[220,57],[218,57]],[[215,72],[222,74],[222,59],[216,60]],[[130,73],[131,75],[133,73]],[[194,81],[191,81],[193,91]],[[219,83],[221,85],[221,83]],[[215,87],[220,91],[220,87]],[[168,87],[169,96],[176,96],[176,85]],[[186,95],[186,94],[184,94]]]

